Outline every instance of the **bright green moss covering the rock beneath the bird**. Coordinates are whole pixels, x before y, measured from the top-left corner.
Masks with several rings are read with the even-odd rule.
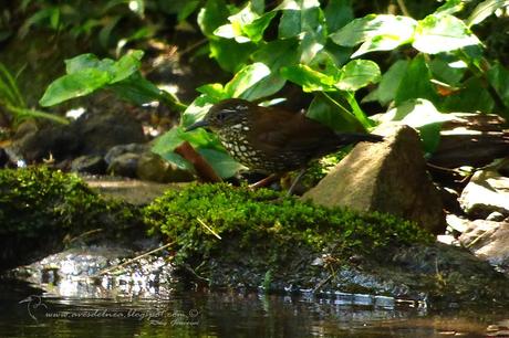
[[[144,216],[152,233],[176,242],[176,262],[200,266],[206,277],[219,265],[243,266],[261,278],[268,268],[276,276],[291,275],[300,256],[309,261],[332,252],[341,262],[352,254],[433,241],[416,224],[393,215],[326,209],[225,183],[168,191],[145,208]]]

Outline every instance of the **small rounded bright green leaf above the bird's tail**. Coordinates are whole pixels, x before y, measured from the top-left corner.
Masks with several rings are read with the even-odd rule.
[[[355,92],[381,77],[378,65],[370,60],[354,60],[341,68],[341,77],[335,86],[341,91]]]

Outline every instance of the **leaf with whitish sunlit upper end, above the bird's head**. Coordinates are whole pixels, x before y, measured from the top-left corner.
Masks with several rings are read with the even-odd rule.
[[[241,95],[254,86],[262,78],[270,75],[270,70],[263,63],[257,62],[245,66],[225,86],[228,97],[242,97]]]

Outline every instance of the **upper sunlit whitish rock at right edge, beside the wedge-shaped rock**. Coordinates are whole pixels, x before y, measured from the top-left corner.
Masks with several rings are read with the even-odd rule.
[[[494,170],[477,171],[459,198],[463,210],[486,219],[492,212],[509,215],[509,178]]]

